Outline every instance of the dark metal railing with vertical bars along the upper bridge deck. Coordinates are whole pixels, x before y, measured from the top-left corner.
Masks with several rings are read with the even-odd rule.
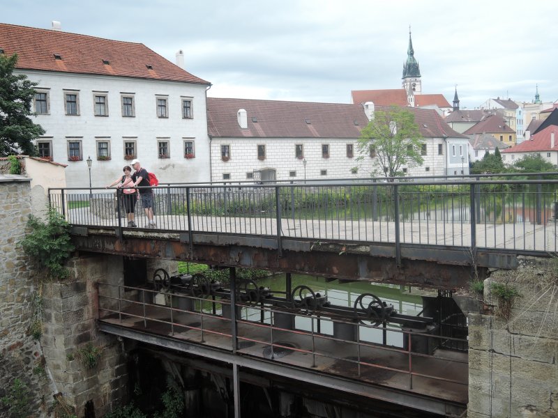
[[[74,225],[128,227],[126,199],[106,189],[50,189]],[[142,200],[135,223],[151,226]],[[167,185],[153,188],[156,229],[402,245],[557,251],[558,180]],[[152,227],[151,227],[152,228]],[[122,236],[122,235],[120,235]],[[191,242],[191,240],[190,240]]]

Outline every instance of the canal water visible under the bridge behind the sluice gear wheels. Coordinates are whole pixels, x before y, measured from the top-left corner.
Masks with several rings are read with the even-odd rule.
[[[326,281],[324,277],[308,276],[304,274],[292,274],[292,289],[297,286],[308,286],[314,293],[325,295],[331,305],[354,309],[357,298],[363,294],[372,294],[379,297],[386,304],[393,305],[393,309],[398,314],[417,316],[423,309],[422,298],[416,295],[409,295],[398,285],[374,284],[368,281],[353,281],[349,283],[339,283],[339,281]],[[275,274],[257,281],[258,286],[271,289],[272,293],[278,297],[285,296],[285,274]],[[408,290],[408,288],[407,288]],[[366,304],[370,297],[365,298]],[[241,318],[245,320],[260,320],[261,311],[259,309],[243,308]],[[348,318],[347,318],[348,319]],[[310,318],[308,316],[296,316],[295,327],[299,330],[310,331],[319,330],[320,333],[333,335],[333,322],[327,318]],[[265,312],[264,323],[271,323],[271,313]],[[374,323],[365,322],[367,325]],[[398,324],[386,324],[386,343],[389,346],[403,347],[403,335]],[[392,330],[390,332],[390,330]],[[382,343],[384,341],[384,331],[377,328],[361,326],[359,330],[361,341],[372,343]]]

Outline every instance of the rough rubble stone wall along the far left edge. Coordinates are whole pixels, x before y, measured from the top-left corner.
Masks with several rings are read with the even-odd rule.
[[[54,387],[40,344],[29,335],[36,286],[27,258],[17,246],[24,238],[31,213],[29,179],[0,175],[0,398],[9,393],[15,379],[29,389],[33,417],[46,416]],[[0,417],[8,417],[0,404]]]

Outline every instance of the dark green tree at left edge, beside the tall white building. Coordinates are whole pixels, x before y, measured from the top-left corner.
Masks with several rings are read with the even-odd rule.
[[[37,84],[26,75],[15,75],[16,64],[17,54],[0,54],[0,157],[36,155],[33,139],[45,133],[29,118]]]

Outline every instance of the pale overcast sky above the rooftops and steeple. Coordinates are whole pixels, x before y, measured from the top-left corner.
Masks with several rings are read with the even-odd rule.
[[[400,88],[409,24],[423,93],[461,107],[558,100],[558,2],[0,0],[0,21],[142,42],[221,98],[350,102]]]

